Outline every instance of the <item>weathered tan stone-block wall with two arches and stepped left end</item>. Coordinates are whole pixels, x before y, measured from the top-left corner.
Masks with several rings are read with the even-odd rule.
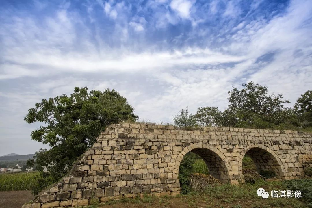
[[[183,156],[195,152],[222,182],[244,183],[241,163],[249,155],[258,170],[288,180],[304,177],[312,161],[312,135],[296,131],[113,124],[85,152],[71,176],[23,208],[82,206],[122,197],[174,196]]]

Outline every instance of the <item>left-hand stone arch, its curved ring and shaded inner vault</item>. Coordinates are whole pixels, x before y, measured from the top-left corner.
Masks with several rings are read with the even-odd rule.
[[[210,145],[206,146],[205,144],[192,144],[192,146],[184,148],[178,155],[175,165],[176,170],[179,170],[180,163],[188,152],[193,152],[201,157],[209,169],[209,174],[222,183],[227,183],[232,179],[232,168],[229,166],[227,158],[217,148]],[[178,171],[175,173],[178,176]]]

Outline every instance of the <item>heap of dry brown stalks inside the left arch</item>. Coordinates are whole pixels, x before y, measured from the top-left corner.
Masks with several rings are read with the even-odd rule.
[[[205,191],[207,186],[217,186],[220,184],[221,182],[211,175],[194,173],[190,176],[190,186],[195,191]]]

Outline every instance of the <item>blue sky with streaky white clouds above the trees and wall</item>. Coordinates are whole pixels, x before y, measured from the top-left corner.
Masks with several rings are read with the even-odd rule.
[[[114,88],[156,122],[223,110],[251,80],[289,106],[312,88],[309,0],[2,0],[0,44],[0,155],[47,147],[23,118],[75,86]]]

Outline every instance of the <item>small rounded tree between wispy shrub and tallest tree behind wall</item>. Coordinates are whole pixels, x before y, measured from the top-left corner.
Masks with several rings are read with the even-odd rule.
[[[201,126],[218,126],[220,124],[221,111],[218,107],[201,107],[197,109],[195,118]]]

